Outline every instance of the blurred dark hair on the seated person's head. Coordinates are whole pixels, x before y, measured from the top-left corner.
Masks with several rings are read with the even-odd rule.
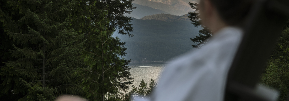
[[[228,25],[240,25],[249,13],[253,0],[210,0]]]

